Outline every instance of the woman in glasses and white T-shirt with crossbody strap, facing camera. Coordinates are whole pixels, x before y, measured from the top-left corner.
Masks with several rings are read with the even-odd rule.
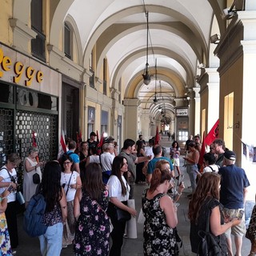
[[[71,245],[74,240],[76,221],[74,218],[74,195],[76,190],[82,186],[80,174],[72,170],[72,159],[68,155],[62,157],[61,185],[66,193],[67,218],[63,228],[62,248]]]

